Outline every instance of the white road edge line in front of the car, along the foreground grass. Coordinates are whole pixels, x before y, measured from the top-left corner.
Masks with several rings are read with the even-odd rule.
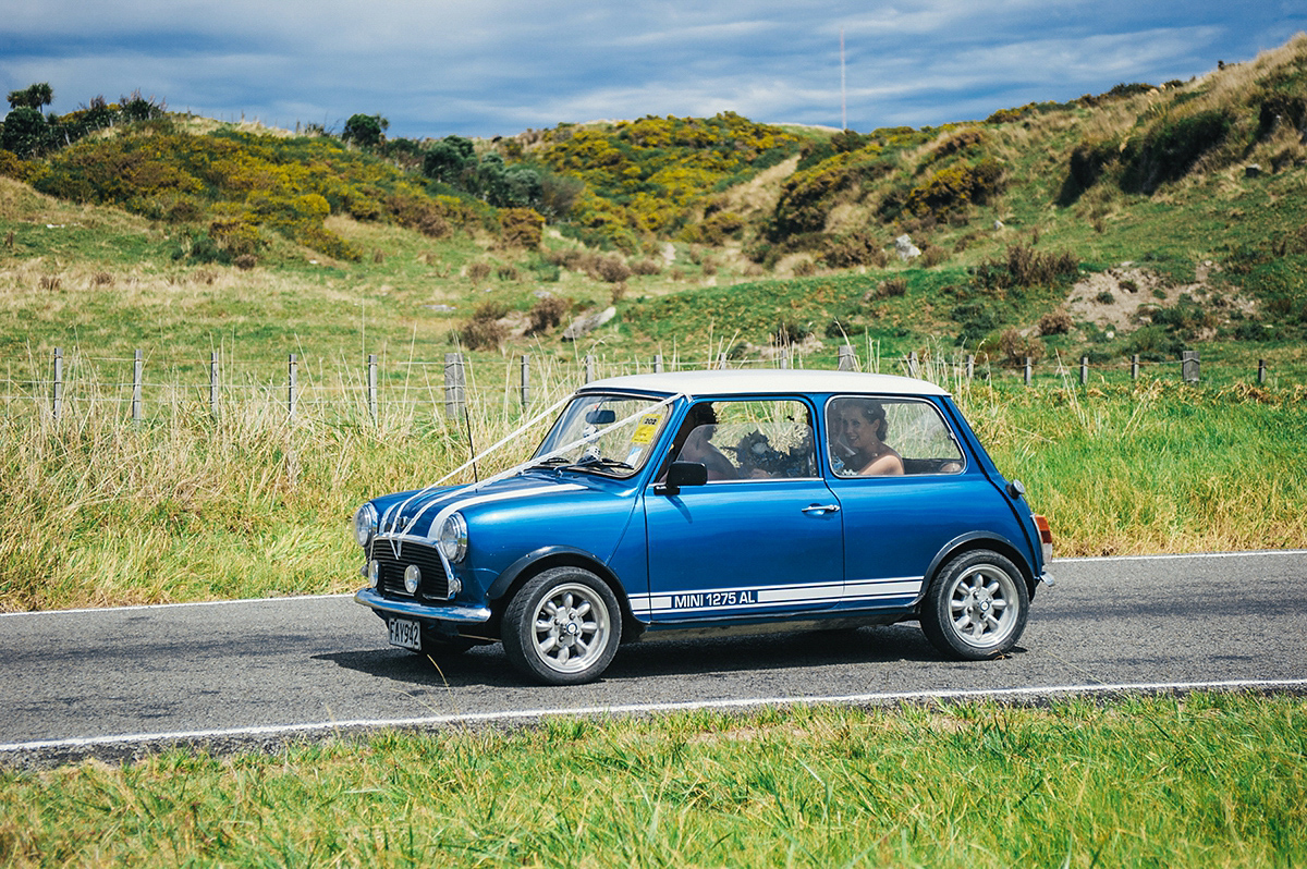
[[[682,712],[695,710],[740,710],[750,707],[791,707],[806,704],[864,706],[912,700],[971,700],[1004,698],[1053,698],[1060,695],[1095,695],[1116,693],[1202,691],[1300,689],[1303,680],[1226,680],[1216,682],[1121,682],[1116,685],[1055,685],[1043,687],[1005,687],[987,690],[941,691],[886,691],[880,694],[840,694],[817,697],[772,697],[736,700],[685,700],[678,703],[630,703],[623,706],[583,706],[553,710],[515,710],[505,712],[474,712],[468,715],[431,715],[417,719],[354,719],[348,721],[315,721],[311,724],[272,724],[264,727],[230,728],[222,730],[176,730],[171,733],[122,733],[73,740],[39,740],[34,742],[0,744],[0,751],[41,751],[51,749],[84,749],[101,745],[139,745],[148,742],[178,742],[192,740],[238,738],[257,736],[294,736],[323,730],[357,730],[372,728],[434,728],[448,724],[495,724],[562,716],[640,715],[654,712]]]

